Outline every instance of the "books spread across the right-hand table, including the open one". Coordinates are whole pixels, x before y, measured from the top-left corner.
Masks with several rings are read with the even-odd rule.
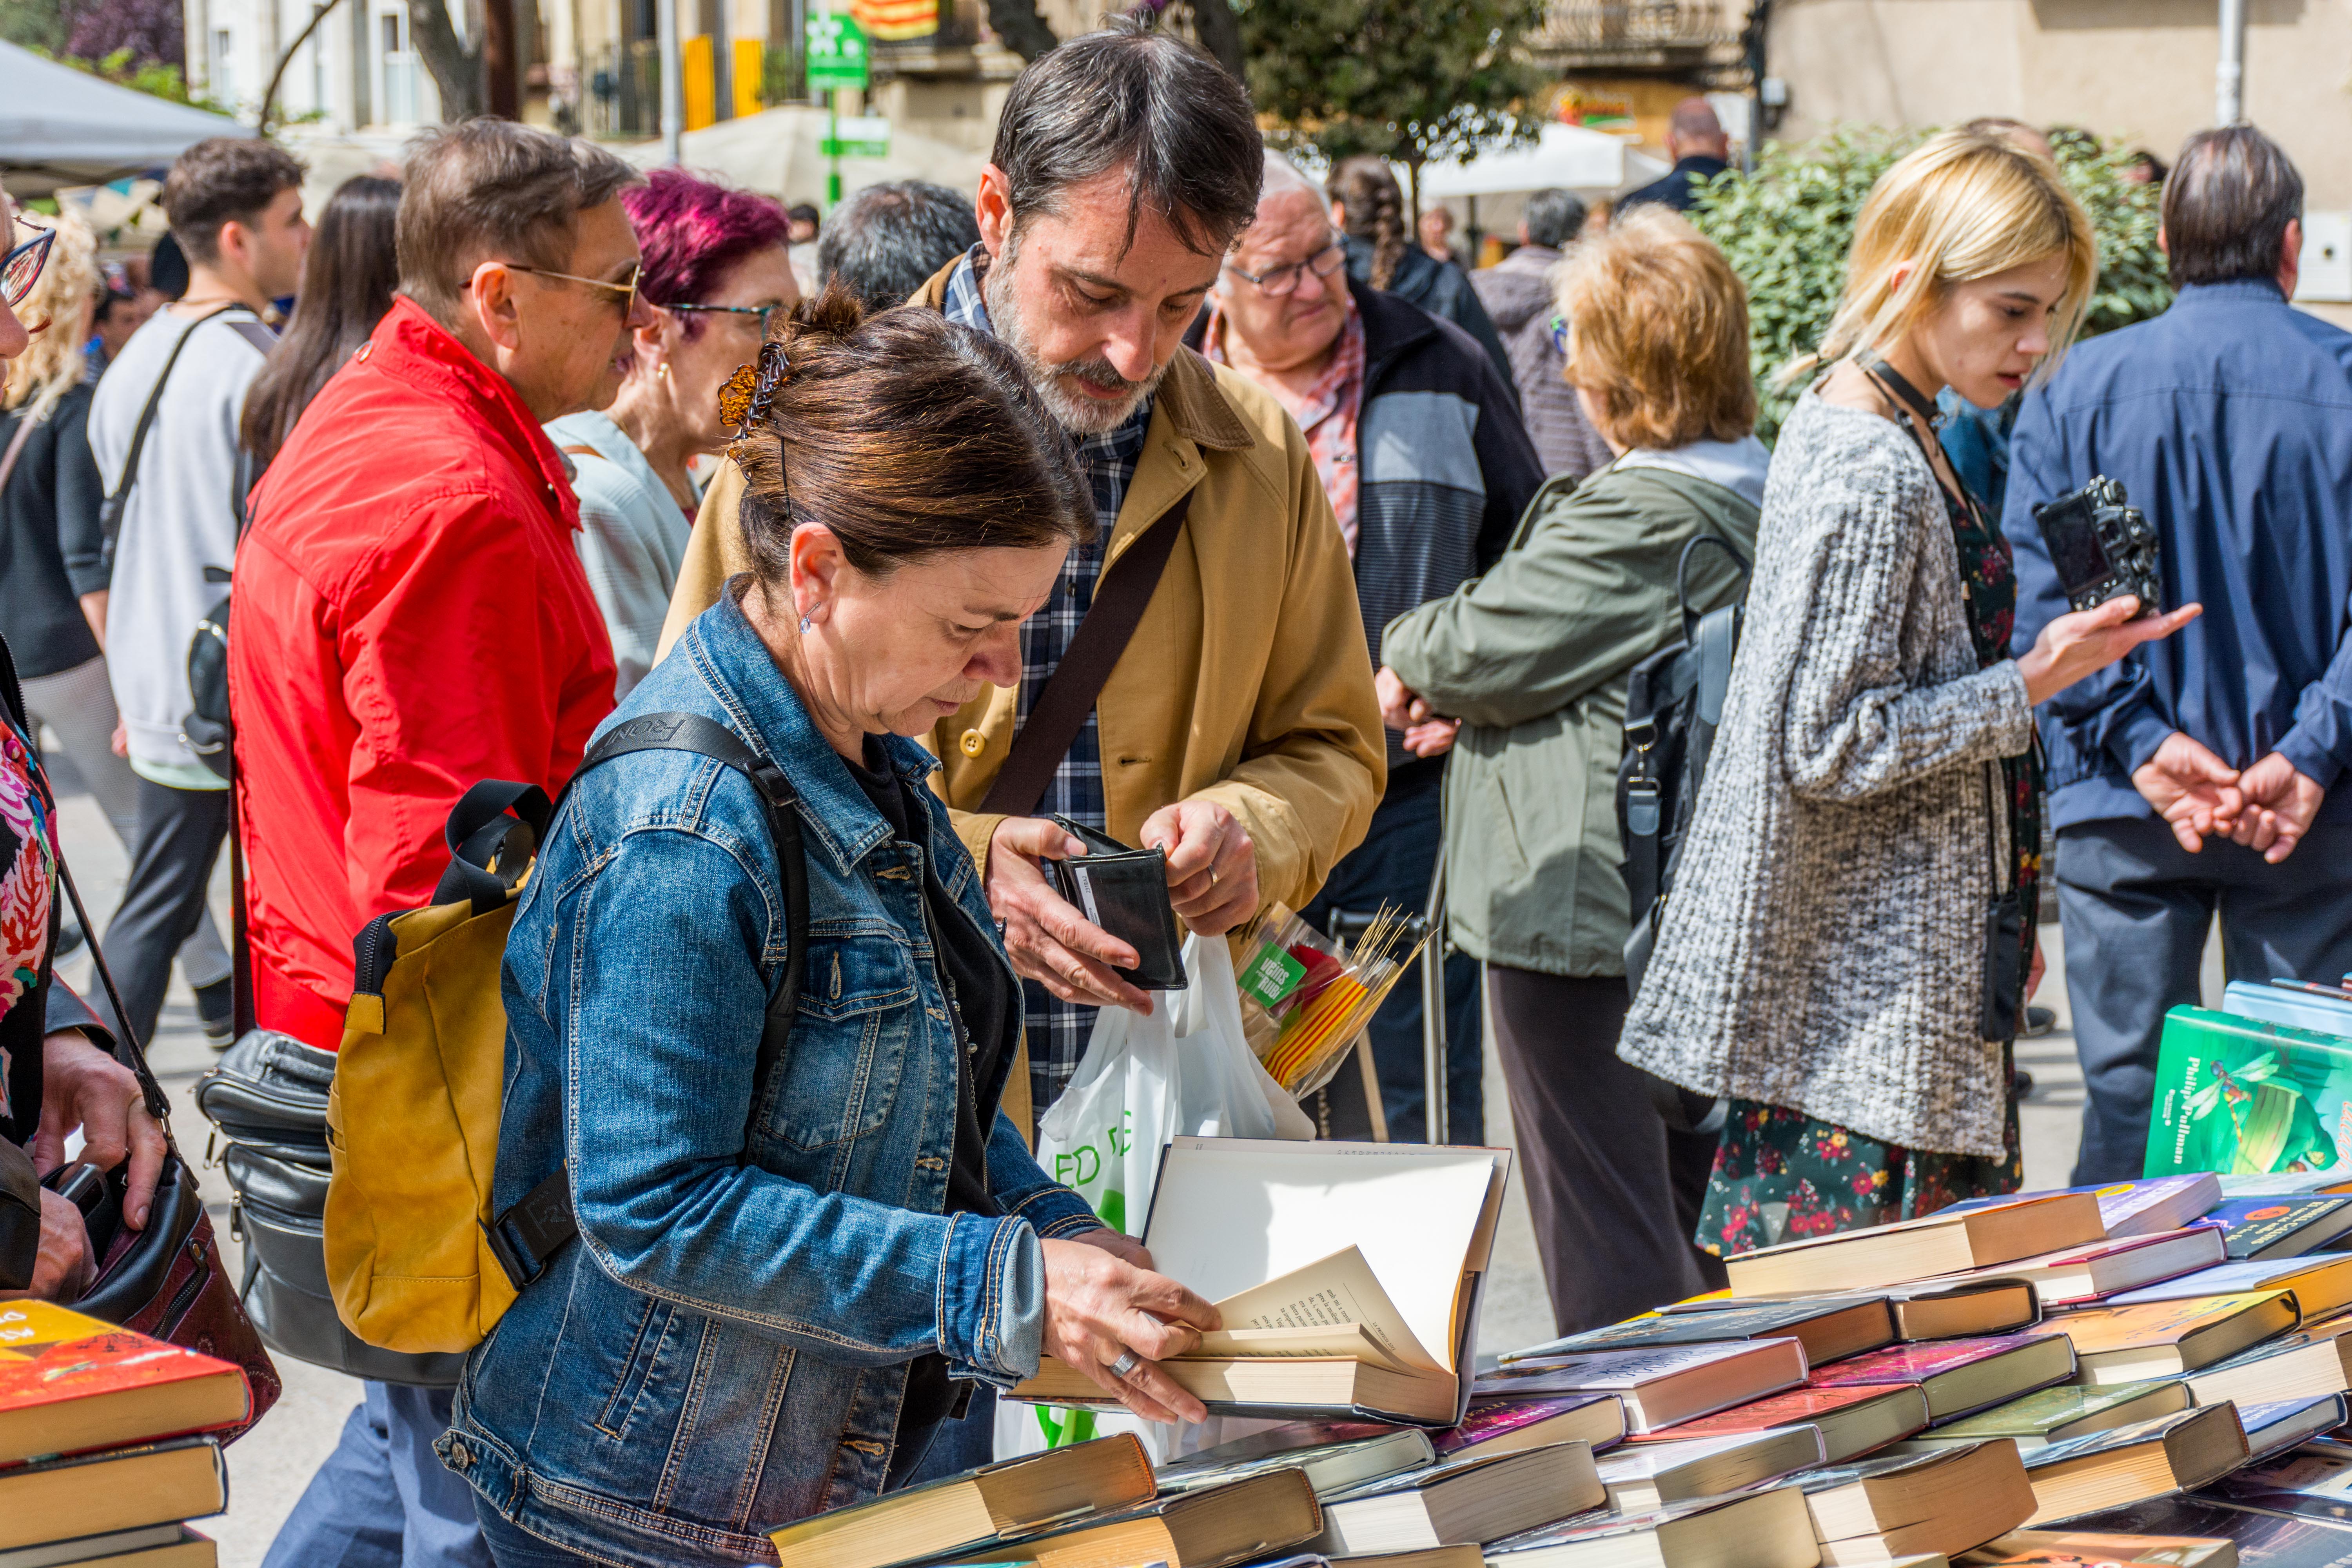
[[[2183,1013],[2209,1056],[2293,1030]],[[2244,1112],[2279,1070],[2237,1070]],[[1164,1366],[1275,1425],[1157,1469],[1131,1436],[1007,1460],[774,1540],[786,1568],[2352,1568],[2345,1168],[1973,1201],[1479,1359],[1508,1154],[1185,1138],[1143,1241],[1225,1331]],[[1011,1399],[1103,1403],[1051,1363]]]

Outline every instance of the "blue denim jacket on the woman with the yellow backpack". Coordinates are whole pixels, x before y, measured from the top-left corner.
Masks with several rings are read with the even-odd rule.
[[[1037,1241],[1098,1220],[995,1112],[1009,1060],[976,1086],[1002,1218],[941,1213],[960,1039],[924,858],[993,929],[946,806],[924,790],[924,842],[894,842],[731,595],[607,724],[661,710],[727,724],[800,792],[800,1016],[753,1105],[788,943],[750,783],[689,752],[586,773],[506,945],[496,1175],[506,1208],[569,1161],[579,1239],[468,1359],[440,1453],[600,1561],[774,1561],[762,1530],[880,1490],[910,1359],[1035,1373]],[[910,780],[934,766],[887,748]]]

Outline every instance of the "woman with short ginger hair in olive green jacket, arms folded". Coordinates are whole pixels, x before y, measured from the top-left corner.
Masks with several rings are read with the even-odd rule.
[[[1390,621],[1381,698],[1406,745],[1461,724],[1446,931],[1486,964],[1552,1314],[1576,1333],[1708,1284],[1689,1237],[1715,1138],[1670,1135],[1646,1074],[1616,1058],[1616,769],[1625,677],[1682,635],[1682,550],[1717,536],[1755,555],[1766,458],[1745,292],[1679,216],[1644,209],[1583,244],[1559,310],[1566,376],[1618,458],[1548,484],[1494,571]],[[1729,604],[1740,571],[1698,550],[1689,590],[1693,611]]]

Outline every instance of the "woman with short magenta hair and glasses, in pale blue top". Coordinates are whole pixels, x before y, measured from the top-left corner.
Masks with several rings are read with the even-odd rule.
[[[621,390],[609,409],[548,425],[572,461],[581,559],[612,630],[616,698],[654,665],[699,503],[691,463],[724,451],[731,435],[720,423],[720,386],[760,357],[769,315],[800,303],[776,202],[654,169],[621,205],[644,254],[637,292],[656,322],[616,360]]]

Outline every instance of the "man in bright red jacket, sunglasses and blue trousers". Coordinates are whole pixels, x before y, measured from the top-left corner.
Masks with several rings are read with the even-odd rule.
[[[350,938],[430,903],[456,797],[482,778],[553,795],[612,710],[541,423],[612,402],[628,331],[652,324],[619,200],[635,179],[506,120],[426,134],[400,299],[254,489],[228,689],[261,1027],[334,1051]],[[447,1389],[369,1382],[268,1566],[489,1568],[470,1490],[430,1453],[447,1425]]]

